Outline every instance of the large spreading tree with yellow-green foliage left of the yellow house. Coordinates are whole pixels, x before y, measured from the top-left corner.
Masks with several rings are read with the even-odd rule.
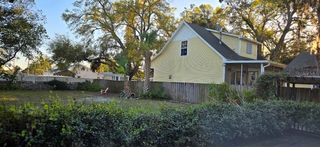
[[[113,59],[121,53],[128,59],[130,79],[143,60],[141,34],[157,30],[162,37],[157,43],[162,46],[176,28],[175,8],[169,6],[168,0],[76,0],[73,6],[74,9],[62,13],[62,19],[89,46],[73,55],[73,59],[96,64],[91,66],[95,70],[100,64],[116,65]],[[91,47],[94,49],[88,52]],[[77,56],[83,53],[87,53],[85,58]]]

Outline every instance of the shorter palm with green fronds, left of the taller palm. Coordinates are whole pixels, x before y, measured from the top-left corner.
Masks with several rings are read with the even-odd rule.
[[[124,87],[123,87],[123,91],[124,91],[124,96],[125,98],[129,98],[130,97],[130,93],[131,93],[131,89],[129,86],[129,82],[126,78],[127,75],[127,66],[126,64],[128,63],[128,59],[123,56],[123,55],[117,55],[115,57],[117,63],[118,63],[118,67],[116,67],[116,69],[118,70],[119,73],[123,74],[123,82],[124,82]]]

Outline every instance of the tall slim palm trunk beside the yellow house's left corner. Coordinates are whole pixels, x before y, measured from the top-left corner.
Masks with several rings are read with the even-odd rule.
[[[150,67],[151,67],[151,52],[147,51],[144,55],[144,84],[143,93],[149,92],[150,83]]]

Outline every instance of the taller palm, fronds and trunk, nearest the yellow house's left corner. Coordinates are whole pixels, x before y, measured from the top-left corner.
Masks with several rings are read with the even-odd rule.
[[[150,83],[150,68],[151,68],[151,56],[152,52],[150,51],[150,46],[156,39],[157,31],[152,30],[151,32],[144,32],[141,34],[143,42],[141,48],[144,53],[144,83],[143,83],[143,93],[149,92],[149,83]]]

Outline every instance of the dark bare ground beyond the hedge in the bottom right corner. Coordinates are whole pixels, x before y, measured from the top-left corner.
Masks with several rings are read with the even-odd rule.
[[[279,136],[235,141],[208,147],[320,147],[320,137],[287,131]]]

